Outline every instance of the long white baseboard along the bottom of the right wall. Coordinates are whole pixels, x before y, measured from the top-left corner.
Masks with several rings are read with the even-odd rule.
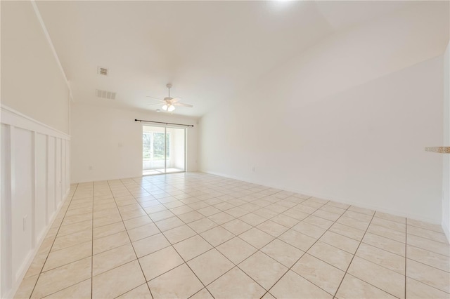
[[[371,210],[375,210],[375,211],[379,211],[379,212],[383,212],[383,213],[389,213],[389,214],[400,216],[400,217],[411,218],[411,219],[415,219],[415,220],[420,220],[420,221],[424,221],[424,222],[429,222],[429,223],[441,225],[441,223],[436,222],[435,219],[430,219],[430,218],[423,217],[421,215],[415,215],[415,214],[411,214],[411,213],[404,213],[403,211],[397,211],[397,210],[394,210],[394,209],[385,208],[383,206],[377,206],[377,205],[371,205],[371,204],[361,204],[361,203],[356,202],[356,201],[349,201],[347,199],[340,199],[340,198],[337,198],[337,197],[330,197],[330,196],[328,196],[326,194],[305,192],[304,190],[295,190],[295,189],[292,189],[292,188],[287,188],[285,186],[266,184],[266,183],[262,183],[262,182],[248,180],[246,178],[240,178],[240,177],[237,177],[235,175],[227,175],[227,174],[224,174],[224,173],[217,173],[217,172],[214,172],[214,171],[202,171],[202,172],[203,173],[210,173],[212,175],[219,175],[219,176],[224,177],[224,178],[232,178],[234,180],[241,180],[243,182],[250,182],[252,184],[257,184],[257,185],[262,185],[262,186],[266,186],[266,187],[271,187],[271,188],[276,188],[276,189],[280,189],[280,190],[285,190],[285,191],[288,191],[288,192],[305,194],[305,195],[310,196],[310,197],[318,197],[318,198],[321,198],[321,199],[326,199],[326,200],[330,200],[330,201],[336,201],[336,202],[339,202],[341,204],[349,204],[349,205],[352,205],[352,206],[357,206],[359,208],[368,208],[368,209],[371,209]],[[449,236],[449,234],[447,234],[447,238],[448,238],[448,236]]]

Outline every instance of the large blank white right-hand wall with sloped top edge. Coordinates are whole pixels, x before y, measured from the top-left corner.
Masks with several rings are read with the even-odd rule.
[[[446,12],[352,27],[277,67],[200,120],[200,169],[440,223],[442,157],[424,147],[442,142]]]

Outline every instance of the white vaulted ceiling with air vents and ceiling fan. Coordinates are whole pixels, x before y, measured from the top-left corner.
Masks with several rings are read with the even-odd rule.
[[[38,1],[75,102],[199,117],[324,37],[408,1]],[[109,69],[108,77],[97,67]],[[116,100],[95,90],[115,91]]]

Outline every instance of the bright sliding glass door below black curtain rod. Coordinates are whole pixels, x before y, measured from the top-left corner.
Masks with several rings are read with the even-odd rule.
[[[186,128],[142,126],[142,174],[186,169]]]

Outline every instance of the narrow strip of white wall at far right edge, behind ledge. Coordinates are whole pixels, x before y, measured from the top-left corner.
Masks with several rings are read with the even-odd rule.
[[[444,54],[444,138],[450,146],[450,43]],[[443,155],[442,164],[442,228],[450,241],[450,154]]]

